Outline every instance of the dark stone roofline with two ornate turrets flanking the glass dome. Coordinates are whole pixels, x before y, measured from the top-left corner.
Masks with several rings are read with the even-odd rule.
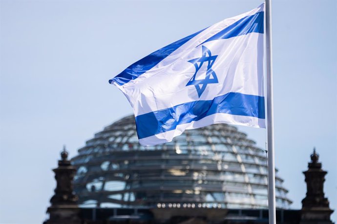
[[[76,169],[63,150],[59,167],[53,169],[57,187],[47,209],[49,219],[44,224],[266,224],[267,209],[224,208],[82,208],[73,191]],[[318,154],[314,149],[308,170],[304,171],[307,194],[302,209],[277,209],[277,224],[333,224],[333,210],[324,197],[324,177]]]

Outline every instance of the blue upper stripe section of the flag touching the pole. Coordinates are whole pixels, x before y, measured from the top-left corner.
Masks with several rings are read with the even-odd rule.
[[[203,43],[216,39],[228,39],[231,37],[238,37],[249,33],[263,34],[263,21],[264,21],[264,12],[258,12],[253,16],[244,17],[234,22],[232,25],[229,25],[228,27],[226,27],[219,33],[215,34],[214,36],[208,38]]]

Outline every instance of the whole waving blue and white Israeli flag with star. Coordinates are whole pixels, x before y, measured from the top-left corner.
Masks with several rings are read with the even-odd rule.
[[[169,44],[109,80],[133,108],[141,145],[216,123],[265,128],[264,8]]]

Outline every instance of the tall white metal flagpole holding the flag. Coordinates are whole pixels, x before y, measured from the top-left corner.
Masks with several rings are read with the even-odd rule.
[[[267,65],[267,150],[268,150],[268,208],[269,224],[276,224],[274,113],[273,113],[273,56],[272,0],[266,0],[266,65]]]

